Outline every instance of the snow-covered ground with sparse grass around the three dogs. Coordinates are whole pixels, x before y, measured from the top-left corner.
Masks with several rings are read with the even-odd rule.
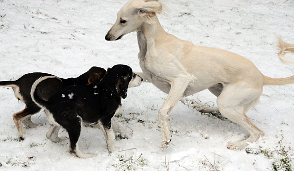
[[[141,71],[136,33],[107,42],[104,37],[127,0],[0,0],[0,80],[46,72],[76,77],[91,66],[128,64]],[[281,64],[274,34],[294,43],[293,0],[164,0],[169,16],[159,15],[163,28],[200,46],[229,50],[251,60],[270,77],[294,75]],[[294,168],[294,87],[265,86],[260,104],[247,113],[265,136],[241,151],[228,142],[245,139],[238,125],[201,114],[192,102],[216,106],[205,90],[182,99],[171,116],[172,145],[160,149],[157,112],[166,94],[151,84],[131,88],[118,120],[130,132],[116,140],[109,154],[100,129],[83,128],[79,148],[96,157],[74,158],[68,141],[46,138],[49,123],[43,111],[19,141],[12,114],[22,110],[11,88],[0,87],[0,170],[2,171],[277,171]],[[67,136],[61,131],[60,136]],[[287,170],[289,171],[289,170]]]

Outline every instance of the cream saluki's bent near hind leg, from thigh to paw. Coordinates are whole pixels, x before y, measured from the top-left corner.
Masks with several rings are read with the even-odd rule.
[[[217,99],[220,112],[229,120],[239,124],[250,134],[249,138],[237,143],[229,143],[227,148],[242,150],[248,143],[257,141],[264,132],[257,128],[245,115],[245,112],[254,106],[262,94],[262,90],[251,88],[249,85],[227,85]]]

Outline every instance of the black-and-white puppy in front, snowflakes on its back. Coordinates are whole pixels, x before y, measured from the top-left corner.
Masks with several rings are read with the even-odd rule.
[[[33,101],[45,109],[51,124],[47,138],[60,142],[62,139],[58,137],[58,131],[61,126],[69,134],[68,151],[76,157],[92,157],[95,154],[85,154],[79,150],[78,141],[82,122],[98,123],[104,132],[108,150],[114,151],[115,135],[111,128],[111,118],[120,110],[121,98],[126,98],[127,88],[141,85],[143,79],[129,66],[118,64],[108,68],[99,84],[70,86],[45,101],[38,97],[35,89],[43,80],[49,78],[55,77],[42,77],[31,88]]]

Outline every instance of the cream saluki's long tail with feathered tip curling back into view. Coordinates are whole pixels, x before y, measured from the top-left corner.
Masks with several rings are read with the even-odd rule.
[[[294,44],[284,42],[281,36],[276,36],[278,39],[277,48],[279,50],[278,56],[282,63],[294,63],[294,59],[285,57],[287,53],[294,54]],[[270,78],[264,76],[264,85],[290,85],[294,84],[294,76],[286,78]]]

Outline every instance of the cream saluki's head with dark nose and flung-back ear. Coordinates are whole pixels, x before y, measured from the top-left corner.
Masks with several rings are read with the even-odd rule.
[[[130,0],[118,12],[118,18],[105,36],[106,41],[116,41],[124,35],[139,31],[144,23],[153,24],[156,14],[162,11],[158,0]]]

